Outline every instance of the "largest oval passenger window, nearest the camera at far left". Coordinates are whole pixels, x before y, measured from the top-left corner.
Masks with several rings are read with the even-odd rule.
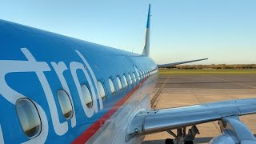
[[[28,98],[21,98],[15,103],[19,122],[28,138],[34,138],[41,132],[41,119],[38,110]]]

